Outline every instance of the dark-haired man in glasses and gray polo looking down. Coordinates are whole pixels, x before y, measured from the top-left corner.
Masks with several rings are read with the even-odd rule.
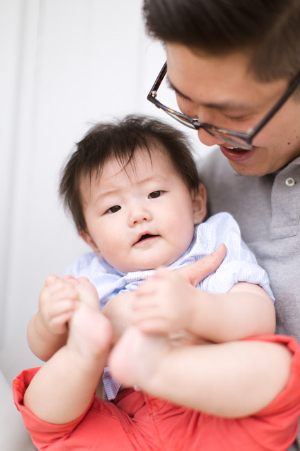
[[[236,218],[269,274],[277,332],[300,341],[300,2],[144,0],[143,11],[183,114],[159,103],[164,71],[148,98],[218,146],[200,169],[210,213]]]

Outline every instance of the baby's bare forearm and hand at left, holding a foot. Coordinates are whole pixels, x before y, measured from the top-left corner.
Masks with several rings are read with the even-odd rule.
[[[28,323],[27,339],[32,352],[44,361],[67,342],[68,322],[78,307],[75,279],[48,275],[39,294],[39,309]]]

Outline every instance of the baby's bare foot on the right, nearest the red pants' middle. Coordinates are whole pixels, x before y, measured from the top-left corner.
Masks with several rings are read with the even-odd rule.
[[[136,327],[128,327],[109,355],[110,371],[126,386],[150,390],[152,378],[168,349],[166,337],[146,335]]]

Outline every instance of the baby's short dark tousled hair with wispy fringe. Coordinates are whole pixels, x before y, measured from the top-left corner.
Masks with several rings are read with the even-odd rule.
[[[64,207],[73,216],[78,232],[87,232],[80,197],[82,177],[100,177],[105,163],[116,159],[121,167],[134,158],[136,151],[166,152],[175,171],[191,194],[197,193],[199,180],[188,139],[166,123],[141,115],[128,115],[121,121],[96,124],[76,144],[76,151],[62,170],[59,194]]]

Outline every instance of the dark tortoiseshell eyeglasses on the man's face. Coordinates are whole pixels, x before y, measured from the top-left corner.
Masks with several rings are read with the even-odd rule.
[[[157,91],[159,89],[159,86],[161,85],[162,80],[164,80],[166,73],[167,73],[167,63],[165,62],[164,66],[159,72],[157,79],[155,80],[155,84],[152,86],[147,96],[148,101],[154,103],[157,108],[161,108],[161,110],[164,110],[164,112],[173,117],[173,119],[179,121],[181,124],[184,124],[184,126],[194,128],[195,130],[203,128],[204,130],[206,130],[207,133],[209,133],[212,136],[223,139],[225,142],[227,142],[227,144],[231,144],[232,146],[238,146],[239,148],[245,150],[251,150],[253,148],[252,141],[254,137],[258,134],[258,132],[261,131],[261,129],[265,126],[265,124],[267,124],[267,122],[269,122],[270,119],[272,119],[274,114],[279,110],[279,108],[281,108],[283,103],[285,103],[285,101],[288,100],[288,98],[292,95],[292,93],[300,83],[300,72],[299,72],[299,74],[297,74],[297,76],[290,83],[288,90],[286,90],[283,96],[281,96],[279,101],[275,103],[274,107],[270,110],[270,112],[268,112],[265,115],[265,117],[259,122],[259,124],[257,124],[257,126],[254,128],[249,128],[247,133],[240,133],[233,132],[231,130],[226,130],[224,128],[215,127],[210,124],[205,124],[204,122],[198,121],[198,119],[193,119],[193,117],[186,116],[186,114],[173,110],[173,108],[168,108],[166,105],[157,100]]]

